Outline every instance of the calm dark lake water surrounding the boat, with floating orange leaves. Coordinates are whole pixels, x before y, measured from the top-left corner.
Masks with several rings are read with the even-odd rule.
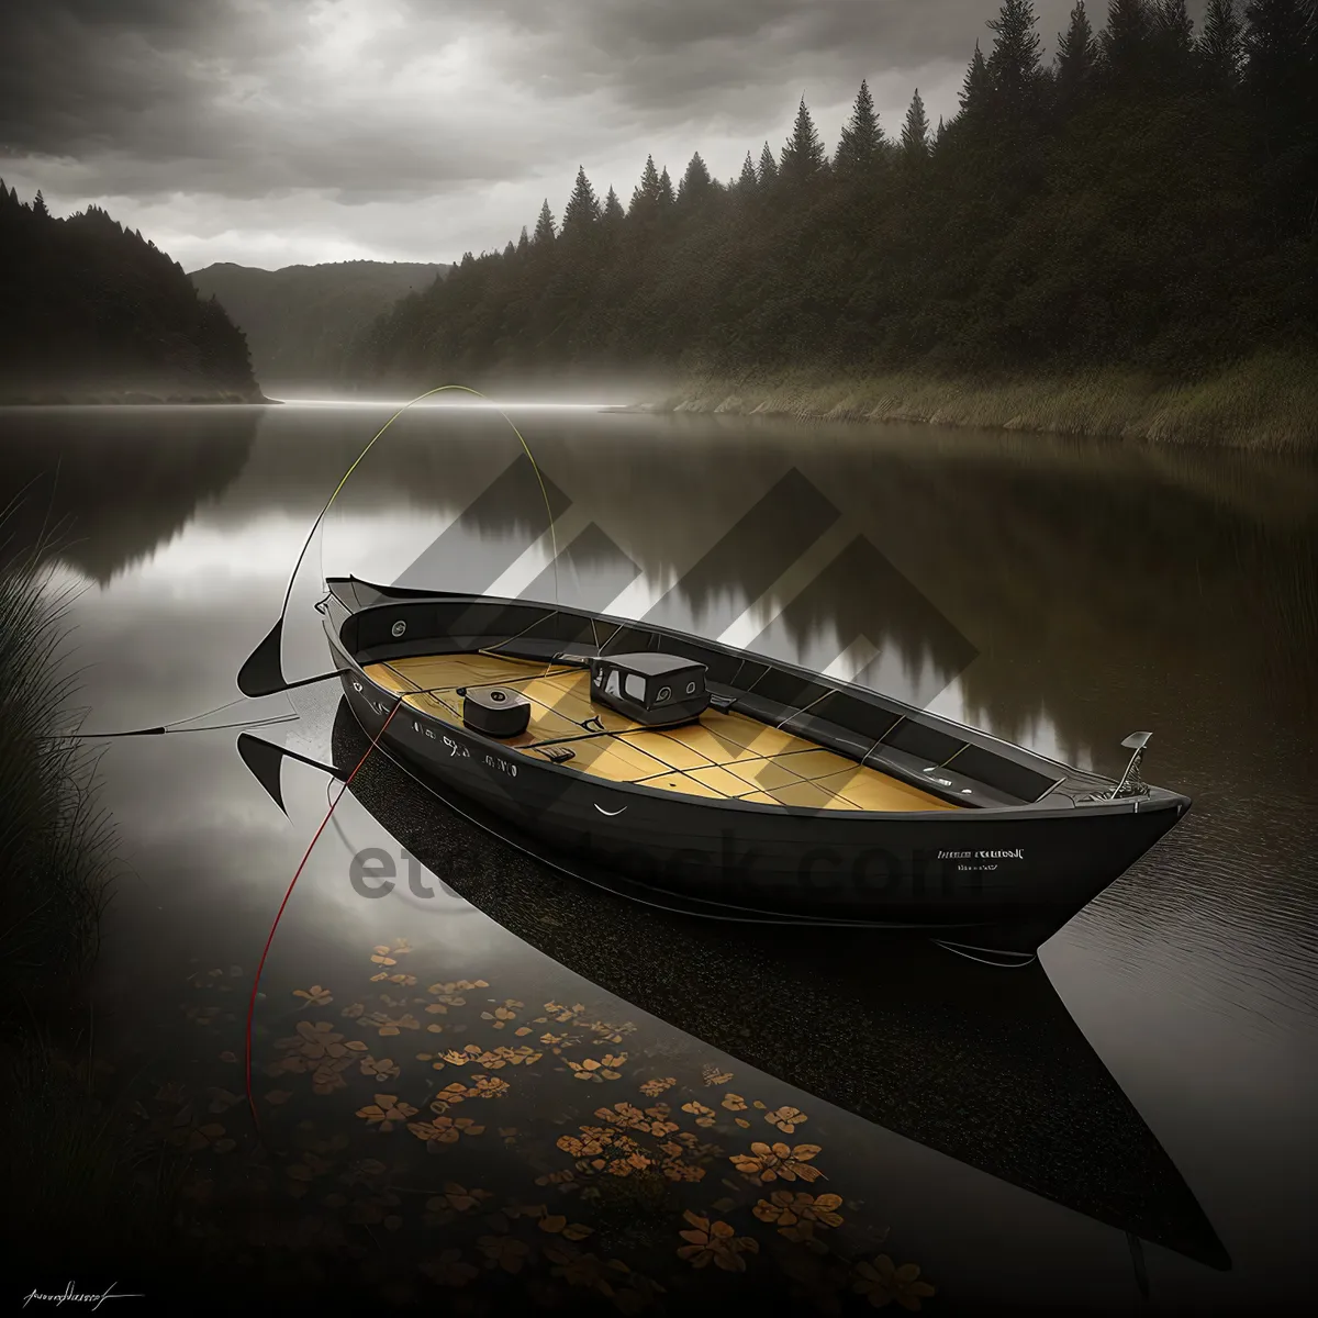
[[[311,521],[387,415],[0,413],[4,496],[26,489],[14,529],[65,531],[88,729],[237,699]],[[262,979],[257,1091],[268,1136],[294,1149],[273,1176],[295,1214],[376,1268],[386,1298],[455,1286],[471,1311],[587,1293],[626,1311],[619,1289],[658,1294],[638,1275],[668,1311],[789,1290],[803,1311],[838,1294],[869,1311],[866,1286],[903,1285],[932,1313],[1252,1311],[1311,1292],[1318,468],[928,427],[513,415],[552,540],[502,418],[415,409],[308,554],[290,675],[327,667],[322,567],[556,590],[1104,772],[1152,729],[1147,776],[1195,805],[1040,965],[1007,971],[647,912],[426,812],[372,764]],[[357,746],[328,685],[187,726],[279,717],[260,731],[301,754]],[[199,1220],[246,1157],[232,1103],[246,994],[327,809],[326,775],[289,764],[281,813],[235,737],[111,741],[101,762],[130,867],[105,927],[101,1046],[144,1069],[142,1119],[198,1151]],[[351,883],[368,847],[397,865],[386,898]],[[405,850],[428,895],[405,882]],[[453,1119],[452,1141],[407,1131],[431,1114]],[[764,1140],[820,1177],[733,1161]],[[782,1215],[803,1201],[774,1191],[840,1197],[805,1232],[816,1247]],[[677,1253],[679,1231],[701,1230],[683,1209],[731,1223],[731,1265]],[[879,1255],[917,1264],[934,1294],[882,1263],[857,1271]],[[600,1273],[609,1259],[635,1272]]]

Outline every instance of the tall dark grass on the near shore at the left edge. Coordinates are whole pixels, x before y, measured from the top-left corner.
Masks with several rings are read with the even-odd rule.
[[[179,1178],[144,1165],[94,1077],[88,973],[115,863],[98,755],[69,737],[67,590],[55,540],[0,511],[0,1194],[25,1264],[141,1257]]]

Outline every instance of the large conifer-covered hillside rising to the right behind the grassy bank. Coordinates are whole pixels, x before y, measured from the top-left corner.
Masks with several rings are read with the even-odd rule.
[[[364,331],[349,374],[423,386],[573,368],[745,378],[1133,368],[1195,378],[1318,332],[1318,0],[1083,4],[1043,55],[1029,0],[975,43],[960,112],[829,152],[803,100],[721,183],[585,170],[502,252]]]

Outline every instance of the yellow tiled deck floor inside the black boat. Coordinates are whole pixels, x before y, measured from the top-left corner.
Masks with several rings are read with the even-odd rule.
[[[502,746],[543,760],[550,743],[567,742],[573,751],[568,767],[610,783],[816,809],[961,808],[735,712],[706,709],[699,724],[642,728],[590,704],[590,676],[584,668],[481,652],[395,659],[368,664],[365,672],[386,691],[411,692],[405,705],[459,728],[463,700],[457,687],[511,687],[530,700],[531,721],[525,733],[501,739]]]

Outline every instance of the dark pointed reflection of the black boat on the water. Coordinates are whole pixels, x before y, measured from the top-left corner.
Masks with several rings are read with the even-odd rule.
[[[347,702],[332,730],[347,778],[369,741]],[[239,749],[282,805],[287,751]],[[302,757],[297,757],[302,758]],[[327,766],[328,767],[328,766]],[[378,749],[349,787],[442,883],[530,946],[746,1065],[992,1177],[1228,1269],[1153,1132],[1036,961],[1012,970],[919,937],[789,929],[645,908],[543,863],[507,824]],[[596,882],[583,883],[581,878]],[[1137,1256],[1139,1264],[1139,1256]]]

